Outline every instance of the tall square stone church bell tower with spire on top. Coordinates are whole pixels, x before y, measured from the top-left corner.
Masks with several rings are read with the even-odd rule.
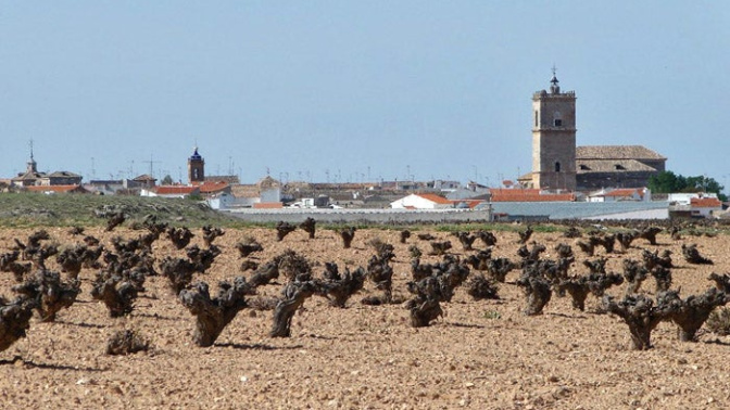
[[[532,95],[532,187],[576,190],[576,93],[561,92],[555,68],[550,92]]]

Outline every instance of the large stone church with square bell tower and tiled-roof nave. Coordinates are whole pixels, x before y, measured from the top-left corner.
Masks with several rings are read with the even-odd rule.
[[[543,191],[642,188],[665,170],[667,158],[641,145],[576,145],[576,93],[561,91],[553,69],[550,91],[532,95],[532,172],[523,187]]]

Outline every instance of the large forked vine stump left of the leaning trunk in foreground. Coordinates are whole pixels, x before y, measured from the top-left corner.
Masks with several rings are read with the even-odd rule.
[[[179,294],[182,306],[196,317],[192,338],[200,347],[212,346],[226,325],[247,307],[244,296],[254,293],[243,277],[237,277],[232,285],[221,282],[218,287],[215,298],[211,298],[205,282],[199,282],[192,290],[182,290]]]

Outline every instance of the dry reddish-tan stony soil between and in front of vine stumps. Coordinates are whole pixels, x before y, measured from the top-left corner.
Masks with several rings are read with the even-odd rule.
[[[61,246],[79,243],[67,229],[49,228],[51,241]],[[25,240],[32,230],[0,231],[0,252]],[[110,248],[114,235],[133,238],[139,231],[103,232],[88,228]],[[192,244],[203,246],[196,230]],[[419,233],[424,233],[420,231]],[[458,241],[453,254],[464,256]],[[518,235],[499,232],[494,257],[517,260]],[[380,238],[395,246],[395,294],[408,297],[408,246],[424,254],[427,242],[412,236],[399,243],[394,230],[358,230],[353,247],[344,249],[333,231],[319,230],[314,240],[297,230],[276,242],[273,229],[228,230],[215,244],[223,249],[206,274],[196,280],[211,284],[241,273],[235,244],[251,235],[265,248],[256,255],[264,262],[287,248],[309,258],[318,276],[325,261],[343,267],[365,266],[374,254],[368,241]],[[577,264],[571,273],[587,273],[588,257],[576,240],[559,233],[536,233],[548,246],[543,257],[555,258],[559,242],[574,245]],[[621,271],[621,260],[641,258],[641,249],[670,248],[676,268],[674,287],[683,297],[704,292],[713,284],[710,272],[730,271],[728,236],[685,236],[672,241],[659,234],[659,246],[637,240],[627,253],[608,258],[609,271]],[[696,243],[714,266],[687,264],[682,243]],[[476,248],[483,248],[477,242]],[[617,245],[618,248],[618,245]],[[158,260],[185,257],[169,240],[154,244]],[[435,256],[424,257],[433,262]],[[58,270],[55,261],[49,268]],[[652,333],[653,349],[630,348],[627,325],[617,317],[602,315],[600,300],[589,296],[586,311],[575,310],[568,297],[553,297],[543,315],[521,313],[525,297],[514,284],[519,272],[500,285],[499,300],[475,302],[457,289],[452,303],[443,304],[444,317],[429,328],[414,329],[403,305],[364,306],[360,300],[379,294],[372,283],[354,295],[347,308],[330,307],[314,296],[292,321],[292,335],[272,338],[272,311],[244,309],[223,331],[215,345],[201,348],[192,342],[193,317],[177,300],[163,277],[152,277],[127,318],[112,319],[101,303],[90,297],[95,271],[83,270],[83,293],[76,304],[62,310],[55,322],[34,318],[27,338],[0,353],[0,407],[78,409],[698,409],[730,408],[730,338],[701,330],[698,342],[678,341],[676,325],[660,323]],[[2,273],[0,293],[12,298],[11,273]],[[282,281],[260,289],[276,296]],[[620,296],[626,284],[608,294]],[[642,292],[652,294],[650,278]],[[255,296],[254,296],[255,297]],[[110,335],[134,329],[146,336],[151,349],[128,356],[108,356]]]

